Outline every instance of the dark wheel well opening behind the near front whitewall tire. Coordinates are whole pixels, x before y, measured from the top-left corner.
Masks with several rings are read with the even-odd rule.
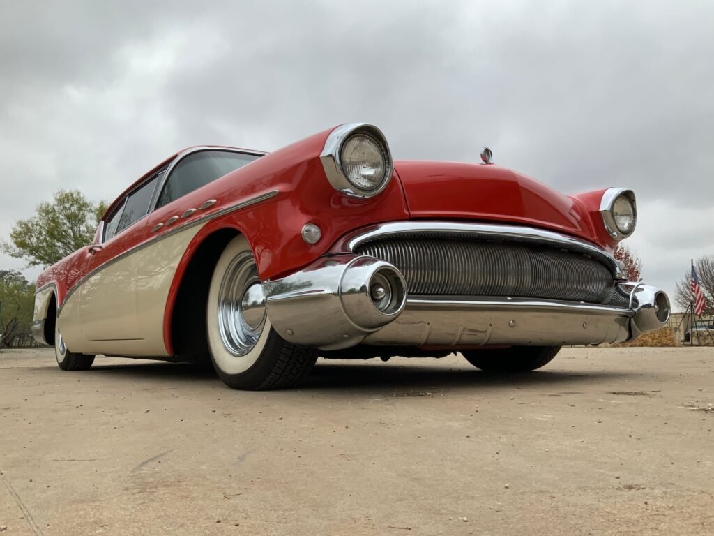
[[[206,306],[216,262],[226,244],[238,236],[236,229],[221,229],[198,246],[183,272],[171,312],[171,342],[174,355],[191,360],[208,359]],[[54,334],[54,331],[53,331]]]

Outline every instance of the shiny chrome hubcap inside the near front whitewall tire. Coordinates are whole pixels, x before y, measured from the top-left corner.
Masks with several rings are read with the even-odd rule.
[[[242,357],[265,327],[265,299],[251,252],[238,255],[223,274],[218,291],[218,332],[226,350]]]

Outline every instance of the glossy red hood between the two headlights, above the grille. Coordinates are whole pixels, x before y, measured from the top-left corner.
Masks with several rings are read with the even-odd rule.
[[[545,227],[593,239],[575,199],[494,165],[397,161],[413,218],[470,219]]]

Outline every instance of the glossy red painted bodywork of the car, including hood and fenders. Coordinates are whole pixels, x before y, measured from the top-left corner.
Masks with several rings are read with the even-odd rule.
[[[568,197],[534,179],[493,165],[396,162],[395,176],[381,194],[371,199],[347,197],[331,187],[320,161],[331,130],[267,154],[156,209],[102,244],[103,249],[94,255],[89,254],[87,248],[71,254],[39,276],[38,288],[56,282],[58,305],[61,305],[66,294],[86,274],[116,255],[193,219],[231,209],[268,192],[277,193],[257,204],[208,220],[184,252],[164,312],[164,342],[170,354],[171,314],[186,267],[201,242],[226,227],[238,230],[248,239],[263,280],[282,277],[310,264],[348,232],[375,223],[410,218],[523,224],[570,234],[603,249],[610,250],[616,244],[605,231],[598,212],[602,190]],[[175,157],[162,162],[137,182]],[[151,232],[156,224],[198,208],[208,199],[216,199],[210,209]],[[317,224],[322,230],[317,244],[306,244],[301,237],[301,229],[307,223]],[[95,238],[95,244],[98,243],[99,236]]]

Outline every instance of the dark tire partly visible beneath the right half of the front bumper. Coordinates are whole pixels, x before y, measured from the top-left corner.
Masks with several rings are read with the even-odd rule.
[[[485,372],[530,372],[550,363],[558,352],[559,346],[513,346],[461,353],[466,361]]]

